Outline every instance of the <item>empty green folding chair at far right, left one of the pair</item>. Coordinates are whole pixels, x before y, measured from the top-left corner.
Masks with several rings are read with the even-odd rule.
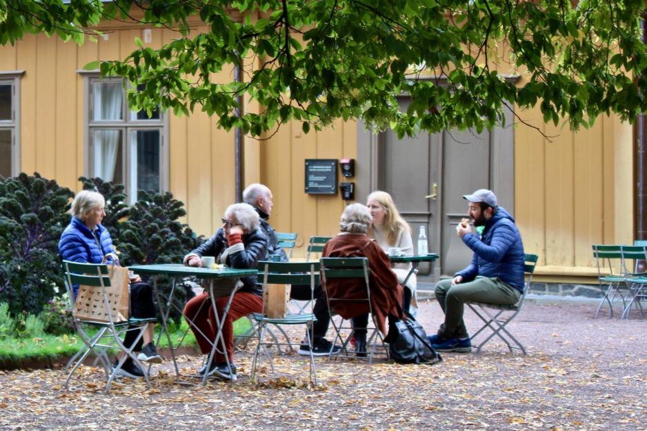
[[[626,299],[628,296],[626,277],[627,266],[622,255],[621,245],[602,245],[593,244],[593,257],[597,263],[597,279],[600,290],[603,294],[595,318],[604,307],[604,303],[609,305],[609,317],[613,317],[613,305],[622,301],[622,309],[626,308]]]

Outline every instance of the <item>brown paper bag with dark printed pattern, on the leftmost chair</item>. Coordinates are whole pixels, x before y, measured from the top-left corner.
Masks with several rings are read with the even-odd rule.
[[[109,322],[112,316],[112,321],[115,323],[128,320],[128,268],[109,265],[108,275],[110,285],[104,288],[108,308],[100,286],[79,285],[77,300],[74,302],[74,314],[78,318]]]

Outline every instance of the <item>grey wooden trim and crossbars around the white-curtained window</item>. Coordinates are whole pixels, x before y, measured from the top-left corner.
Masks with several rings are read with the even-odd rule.
[[[92,120],[92,82],[100,79],[99,70],[77,70],[77,73],[83,77],[83,176],[94,176],[94,145],[92,142],[92,130],[97,128],[120,128],[123,130],[123,156],[128,159],[130,152],[131,130],[160,130],[160,161],[159,161],[159,182],[160,192],[168,192],[170,189],[170,145],[169,145],[169,115],[160,110],[159,121],[155,120],[132,120],[130,119],[130,110],[124,106],[126,119],[123,121],[94,121]],[[106,78],[106,80],[115,80],[115,78]],[[124,104],[127,101],[124,99]],[[137,196],[130,196],[130,168],[127,160],[124,161],[126,168],[123,170],[126,186],[125,192],[128,194],[128,201],[135,202]]]

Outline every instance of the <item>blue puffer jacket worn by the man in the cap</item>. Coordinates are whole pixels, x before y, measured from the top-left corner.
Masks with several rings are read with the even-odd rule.
[[[455,276],[463,281],[482,277],[498,277],[501,281],[524,291],[524,243],[515,219],[499,207],[497,214],[486,222],[483,234],[465,234],[463,242],[473,252],[472,263]]]

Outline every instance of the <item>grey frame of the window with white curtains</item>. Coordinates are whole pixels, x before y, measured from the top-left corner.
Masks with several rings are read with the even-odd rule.
[[[95,177],[94,175],[94,130],[121,130],[122,132],[122,174],[124,192],[128,196],[128,203],[132,204],[137,201],[137,196],[131,195],[132,179],[130,166],[132,154],[132,142],[130,139],[131,132],[137,130],[159,130],[159,192],[167,192],[169,190],[169,171],[170,171],[170,149],[168,145],[168,124],[169,116],[165,112],[159,110],[159,119],[151,120],[137,120],[132,119],[131,111],[128,109],[128,101],[126,100],[126,90],[123,90],[122,99],[122,112],[123,119],[121,120],[94,120],[94,83],[97,81],[103,82],[119,82],[123,83],[120,77],[106,77],[101,79],[98,71],[79,70],[79,74],[83,77],[83,149],[84,149],[84,163],[83,175],[86,177]],[[122,87],[123,88],[123,87]],[[139,188],[137,188],[139,190]]]

